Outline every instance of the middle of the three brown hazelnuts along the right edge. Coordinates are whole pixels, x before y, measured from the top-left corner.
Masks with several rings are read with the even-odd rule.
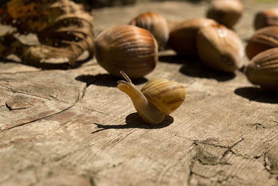
[[[258,53],[278,47],[278,26],[268,26],[258,29],[246,46],[246,55],[252,59]]]

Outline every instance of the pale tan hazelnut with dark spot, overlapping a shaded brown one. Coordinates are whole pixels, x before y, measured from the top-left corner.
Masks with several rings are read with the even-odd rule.
[[[224,25],[200,28],[197,50],[203,63],[214,70],[234,72],[243,66],[243,44],[239,36]]]

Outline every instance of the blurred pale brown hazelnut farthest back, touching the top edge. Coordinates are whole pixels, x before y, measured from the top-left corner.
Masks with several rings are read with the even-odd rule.
[[[207,12],[207,18],[232,27],[243,13],[244,6],[239,0],[213,0]]]

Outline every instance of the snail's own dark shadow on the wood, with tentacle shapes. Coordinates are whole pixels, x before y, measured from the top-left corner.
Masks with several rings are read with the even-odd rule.
[[[126,116],[126,124],[125,125],[102,125],[99,123],[93,123],[99,128],[97,131],[91,132],[91,134],[97,133],[99,131],[104,131],[107,129],[125,129],[125,128],[141,128],[141,129],[159,129],[169,126],[174,122],[174,118],[172,116],[165,116],[165,120],[159,125],[151,125],[146,123],[138,112],[134,112]]]

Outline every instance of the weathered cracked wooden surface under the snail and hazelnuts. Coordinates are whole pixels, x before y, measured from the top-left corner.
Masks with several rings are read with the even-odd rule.
[[[278,3],[244,3],[234,30],[246,43],[255,13]],[[204,17],[207,7],[141,2],[92,13],[97,35],[145,11],[180,21]],[[152,126],[95,59],[68,70],[0,61],[1,186],[278,185],[278,93],[251,84],[242,70],[223,74],[161,51],[155,70],[134,84],[174,80],[186,98]]]

